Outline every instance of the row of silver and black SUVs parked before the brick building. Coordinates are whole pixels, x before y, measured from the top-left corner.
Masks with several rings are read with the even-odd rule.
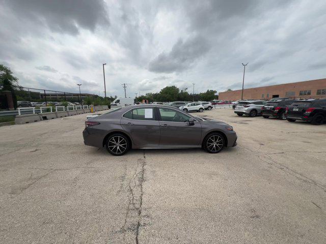
[[[312,125],[321,125],[326,122],[326,99],[243,100],[234,105],[234,113],[238,116],[277,117],[282,120],[287,119],[289,122],[303,120]]]

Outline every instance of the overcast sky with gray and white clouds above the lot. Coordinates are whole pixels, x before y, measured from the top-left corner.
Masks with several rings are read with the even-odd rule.
[[[326,78],[324,0],[0,0],[0,63],[23,86],[103,96]]]

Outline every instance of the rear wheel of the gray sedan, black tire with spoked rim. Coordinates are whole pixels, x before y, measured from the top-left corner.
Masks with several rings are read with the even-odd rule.
[[[114,156],[122,156],[130,149],[130,142],[126,136],[116,133],[106,139],[105,148]]]

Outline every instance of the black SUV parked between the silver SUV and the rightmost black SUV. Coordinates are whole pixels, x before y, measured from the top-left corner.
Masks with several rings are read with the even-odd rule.
[[[274,100],[268,101],[262,110],[264,118],[278,117],[279,119],[286,119],[286,107],[291,105],[295,100]]]

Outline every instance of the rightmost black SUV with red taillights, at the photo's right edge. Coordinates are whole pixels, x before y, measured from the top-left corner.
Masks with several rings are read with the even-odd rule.
[[[298,100],[287,108],[287,120],[309,121],[312,125],[321,125],[326,121],[326,99]]]

